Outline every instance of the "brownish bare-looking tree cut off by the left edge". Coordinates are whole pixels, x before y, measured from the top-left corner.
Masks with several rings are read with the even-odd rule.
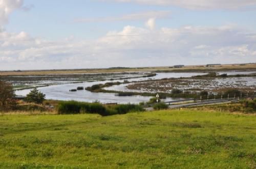
[[[0,110],[10,110],[16,105],[12,85],[0,80]]]

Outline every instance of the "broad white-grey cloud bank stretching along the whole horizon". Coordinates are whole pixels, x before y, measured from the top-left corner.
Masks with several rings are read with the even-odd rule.
[[[91,41],[47,41],[25,32],[0,33],[0,69],[256,62],[256,33],[236,26],[146,29],[125,26]]]

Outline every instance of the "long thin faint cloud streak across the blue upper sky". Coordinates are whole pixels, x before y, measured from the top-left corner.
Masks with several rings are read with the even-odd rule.
[[[125,20],[146,20],[148,18],[165,18],[170,15],[170,11],[146,11],[123,16],[101,17],[101,18],[79,18],[75,22],[109,22],[109,21],[125,21]]]

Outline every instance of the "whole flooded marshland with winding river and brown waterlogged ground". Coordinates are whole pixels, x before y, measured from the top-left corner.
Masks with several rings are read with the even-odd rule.
[[[253,74],[256,72],[219,72],[219,74]],[[38,77],[22,77],[26,80],[14,81],[14,85],[19,83],[32,85],[46,85],[38,89],[46,94],[47,99],[54,100],[77,100],[77,101],[100,101],[102,103],[139,103],[148,101],[151,97],[147,96],[117,96],[113,93],[94,93],[87,90],[70,92],[77,87],[91,87],[99,83],[106,82],[126,82],[125,84],[105,88],[113,91],[128,92],[165,92],[170,93],[173,88],[182,90],[216,90],[219,88],[254,88],[256,87],[256,77],[233,77],[233,78],[212,78],[212,79],[194,79],[190,78],[207,73],[157,73],[149,77],[149,73],[106,73],[106,74],[67,74],[67,75],[47,75]],[[182,78],[181,78],[182,77]],[[38,80],[39,78],[39,80]],[[11,78],[10,78],[11,79]],[[11,80],[10,80],[11,81]],[[34,82],[37,82],[36,84]],[[26,96],[30,89],[18,90],[17,95]],[[164,101],[173,101],[177,98],[166,98]],[[179,98],[178,98],[179,99]]]

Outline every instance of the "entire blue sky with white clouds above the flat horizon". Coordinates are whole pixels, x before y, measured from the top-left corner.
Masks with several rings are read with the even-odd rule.
[[[256,0],[0,0],[0,70],[256,63]]]

